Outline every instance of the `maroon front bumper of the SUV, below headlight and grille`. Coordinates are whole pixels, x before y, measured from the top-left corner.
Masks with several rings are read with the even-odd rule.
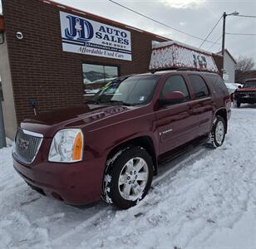
[[[64,203],[83,205],[101,199],[105,159],[75,164],[42,163],[23,165],[14,158],[13,166],[38,192]]]

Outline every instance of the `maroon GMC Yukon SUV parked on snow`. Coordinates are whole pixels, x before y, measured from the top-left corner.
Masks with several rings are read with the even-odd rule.
[[[160,159],[195,140],[224,143],[229,92],[214,73],[157,71],[112,81],[80,107],[42,113],[17,129],[14,168],[68,204],[101,197],[120,208],[145,198]]]

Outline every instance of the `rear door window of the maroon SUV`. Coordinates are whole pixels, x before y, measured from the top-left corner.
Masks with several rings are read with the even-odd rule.
[[[201,99],[206,96],[209,96],[208,87],[201,76],[189,75],[188,77],[190,79],[190,83],[191,83],[192,89],[194,90],[196,99]]]

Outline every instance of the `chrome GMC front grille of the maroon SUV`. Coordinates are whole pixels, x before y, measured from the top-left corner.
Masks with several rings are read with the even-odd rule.
[[[14,154],[25,164],[31,164],[42,144],[43,135],[18,128],[15,137]]]

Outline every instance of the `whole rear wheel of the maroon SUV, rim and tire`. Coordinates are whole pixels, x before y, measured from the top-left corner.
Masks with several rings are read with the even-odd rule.
[[[226,135],[226,123],[222,116],[216,116],[214,118],[214,124],[209,134],[209,147],[217,148],[224,143]]]

